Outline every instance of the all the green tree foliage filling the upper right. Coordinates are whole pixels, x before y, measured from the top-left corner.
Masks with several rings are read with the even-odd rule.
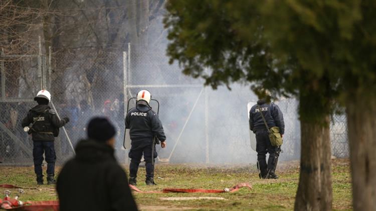
[[[376,90],[373,1],[191,0],[166,9],[170,62],[206,85],[251,82],[296,95],[300,118],[314,123],[336,99]]]

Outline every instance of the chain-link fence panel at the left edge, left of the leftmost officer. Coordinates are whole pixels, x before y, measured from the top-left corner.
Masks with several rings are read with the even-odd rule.
[[[45,78],[44,55],[0,54],[0,162],[24,164],[32,158],[33,143],[21,121]]]

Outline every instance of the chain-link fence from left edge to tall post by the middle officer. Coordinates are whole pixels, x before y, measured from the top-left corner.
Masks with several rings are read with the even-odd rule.
[[[86,137],[86,125],[91,117],[106,116],[118,126],[119,134],[124,130],[122,52],[59,49],[50,58],[45,55],[2,55],[1,58],[0,161],[33,163],[32,140],[23,131],[21,121],[36,105],[33,98],[42,88],[52,94],[51,108],[61,118],[70,119],[55,141],[58,163],[73,156],[69,142],[75,146]],[[120,149],[121,138],[117,137],[116,147]],[[121,155],[123,151],[118,152]]]

